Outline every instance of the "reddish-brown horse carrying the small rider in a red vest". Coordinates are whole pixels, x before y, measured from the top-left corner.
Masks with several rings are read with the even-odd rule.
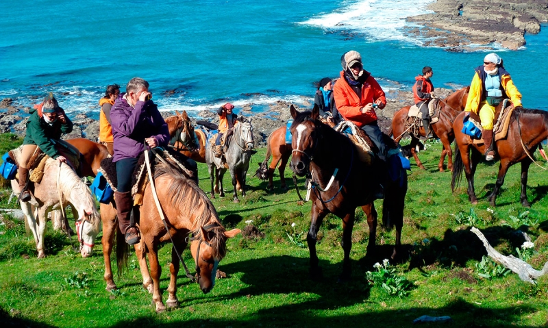
[[[434,99],[432,101],[438,101],[434,105],[436,108],[440,109],[440,118],[439,121],[432,124],[432,132],[440,138],[443,149],[441,151],[440,162],[438,163],[438,168],[440,172],[443,172],[443,162],[445,161],[445,155],[447,155],[447,168],[453,170],[453,153],[451,151],[451,142],[455,138],[453,133],[453,122],[455,118],[464,108],[466,107],[466,100],[468,99],[468,92],[470,87],[462,88],[453,92],[446,99]],[[408,116],[410,106],[406,106],[398,110],[392,119],[391,133],[394,135],[394,140],[399,142],[406,132],[408,132],[409,126],[412,123],[411,117]],[[389,133],[390,134],[390,133]],[[415,147],[419,143],[419,137],[425,136],[424,128],[419,129],[419,135],[416,136],[413,133],[410,133],[411,136],[411,153],[415,159],[416,165],[423,170],[425,167],[419,156],[416,155]]]

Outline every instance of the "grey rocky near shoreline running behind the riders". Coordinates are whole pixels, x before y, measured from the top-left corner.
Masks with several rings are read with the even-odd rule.
[[[436,88],[436,95],[441,98],[447,97],[453,90],[447,88]],[[386,132],[390,128],[394,113],[400,108],[412,105],[413,93],[411,91],[396,91],[390,90],[386,92],[387,104],[384,110],[377,110],[377,116],[379,126]],[[266,138],[275,129],[282,127],[291,118],[289,107],[291,103],[285,101],[278,101],[269,106],[267,112],[255,113],[253,112],[253,103],[236,108],[238,115],[243,115],[251,118],[253,125],[253,133],[256,140],[256,147],[266,146]],[[295,105],[297,110],[310,110],[313,103],[308,102],[306,97],[303,97],[303,105],[299,108]],[[19,104],[16,99],[6,98],[0,101],[0,133],[12,132],[18,136],[24,136],[25,126],[28,119],[28,112],[30,108],[25,108]],[[99,110],[99,106],[97,106]],[[175,112],[162,112],[162,116],[168,117],[175,115]],[[204,110],[197,114],[198,119],[210,121],[212,123],[219,123],[219,116],[217,116],[214,110]],[[192,117],[193,123],[196,121],[196,117]],[[71,138],[88,138],[92,141],[97,141],[99,136],[99,121],[90,118],[86,113],[79,113],[75,116],[71,116],[71,120],[74,123],[73,131],[70,134],[63,136],[64,139]],[[195,125],[196,126],[196,125]]]

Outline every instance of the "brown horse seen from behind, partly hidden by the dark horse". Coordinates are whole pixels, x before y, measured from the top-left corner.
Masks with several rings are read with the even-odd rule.
[[[266,139],[266,156],[264,161],[259,164],[259,168],[255,173],[260,179],[269,179],[269,190],[274,189],[272,177],[278,163],[279,181],[282,183],[282,189],[287,190],[286,177],[284,176],[284,173],[286,171],[289,156],[291,155],[291,144],[286,143],[286,130],[287,127],[285,125],[283,127],[279,127],[270,134],[268,139]],[[271,155],[272,162],[269,166]],[[280,162],[280,160],[282,162]]]

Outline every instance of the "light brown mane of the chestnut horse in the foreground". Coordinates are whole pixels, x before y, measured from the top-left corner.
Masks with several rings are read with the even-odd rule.
[[[173,168],[169,164],[159,163],[154,168],[154,179],[162,175],[171,177],[169,186],[167,186],[167,195],[171,200],[171,207],[178,209],[179,214],[184,216],[194,216],[195,220],[190,224],[192,236],[201,234],[201,227],[206,226],[213,217],[219,225],[208,231],[210,234],[210,245],[213,249],[213,257],[221,260],[227,253],[225,228],[221,225],[219,214],[211,203],[210,199],[203,190],[199,188],[195,181],[188,179],[181,171]],[[211,235],[214,236],[211,236]]]

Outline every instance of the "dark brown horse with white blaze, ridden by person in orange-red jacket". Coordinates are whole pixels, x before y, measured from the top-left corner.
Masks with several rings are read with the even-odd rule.
[[[293,148],[290,168],[297,175],[307,176],[312,181],[310,192],[312,220],[307,236],[310,250],[310,274],[312,277],[321,275],[316,255],[316,238],[323,218],[328,213],[333,213],[343,218],[343,240],[340,245],[343,247],[345,260],[340,279],[349,279],[352,228],[356,207],[361,206],[367,216],[369,225],[367,251],[369,253],[375,247],[377,232],[377,211],[373,204],[373,190],[378,184],[375,177],[388,174],[385,175],[376,170],[375,166],[362,162],[349,138],[321,123],[316,105],[312,113],[299,113],[293,106],[290,110],[295,120],[290,128]],[[395,181],[386,177],[383,182],[386,197],[382,218],[385,227],[396,226],[396,243],[392,255],[392,258],[395,258],[401,244],[407,174],[400,170],[399,177]]]

